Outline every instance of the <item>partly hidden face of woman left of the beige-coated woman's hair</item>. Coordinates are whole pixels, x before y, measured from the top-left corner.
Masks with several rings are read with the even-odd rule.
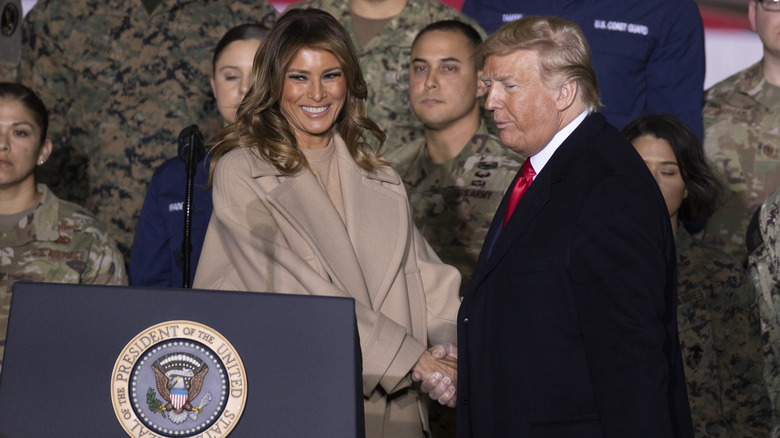
[[[235,123],[236,110],[252,85],[252,61],[258,47],[258,39],[233,41],[217,58],[211,90],[225,125]]]

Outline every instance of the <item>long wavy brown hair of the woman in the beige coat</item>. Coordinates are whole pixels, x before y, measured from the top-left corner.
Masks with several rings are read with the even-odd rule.
[[[368,89],[349,34],[327,12],[291,9],[274,24],[255,55],[253,85],[238,107],[236,123],[222,130],[214,146],[209,185],[219,158],[240,147],[250,148],[284,175],[308,167],[279,106],[287,69],[302,49],[328,51],[341,64],[347,99],[336,127],[357,164],[369,172],[387,164],[369,144],[371,135],[381,147],[385,133],[366,116]]]

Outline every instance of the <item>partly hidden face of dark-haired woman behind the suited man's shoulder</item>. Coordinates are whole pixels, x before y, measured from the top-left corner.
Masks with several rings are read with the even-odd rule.
[[[666,140],[650,135],[637,137],[631,143],[661,189],[672,223],[677,223],[680,206],[683,199],[688,197],[688,190],[672,146]]]

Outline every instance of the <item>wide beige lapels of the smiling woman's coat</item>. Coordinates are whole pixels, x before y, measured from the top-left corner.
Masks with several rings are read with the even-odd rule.
[[[379,309],[403,262],[411,232],[404,214],[406,198],[381,184],[400,184],[394,172],[369,175],[339,136],[335,143],[345,221],[308,170],[279,176],[280,184],[268,199],[304,236],[336,286]]]

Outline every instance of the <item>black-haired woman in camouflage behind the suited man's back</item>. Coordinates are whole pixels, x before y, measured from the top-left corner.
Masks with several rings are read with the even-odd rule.
[[[641,116],[623,133],[658,182],[676,233],[677,326],[695,436],[766,437],[772,415],[755,290],[742,264],[679,226],[714,210],[718,178],[674,116]]]

